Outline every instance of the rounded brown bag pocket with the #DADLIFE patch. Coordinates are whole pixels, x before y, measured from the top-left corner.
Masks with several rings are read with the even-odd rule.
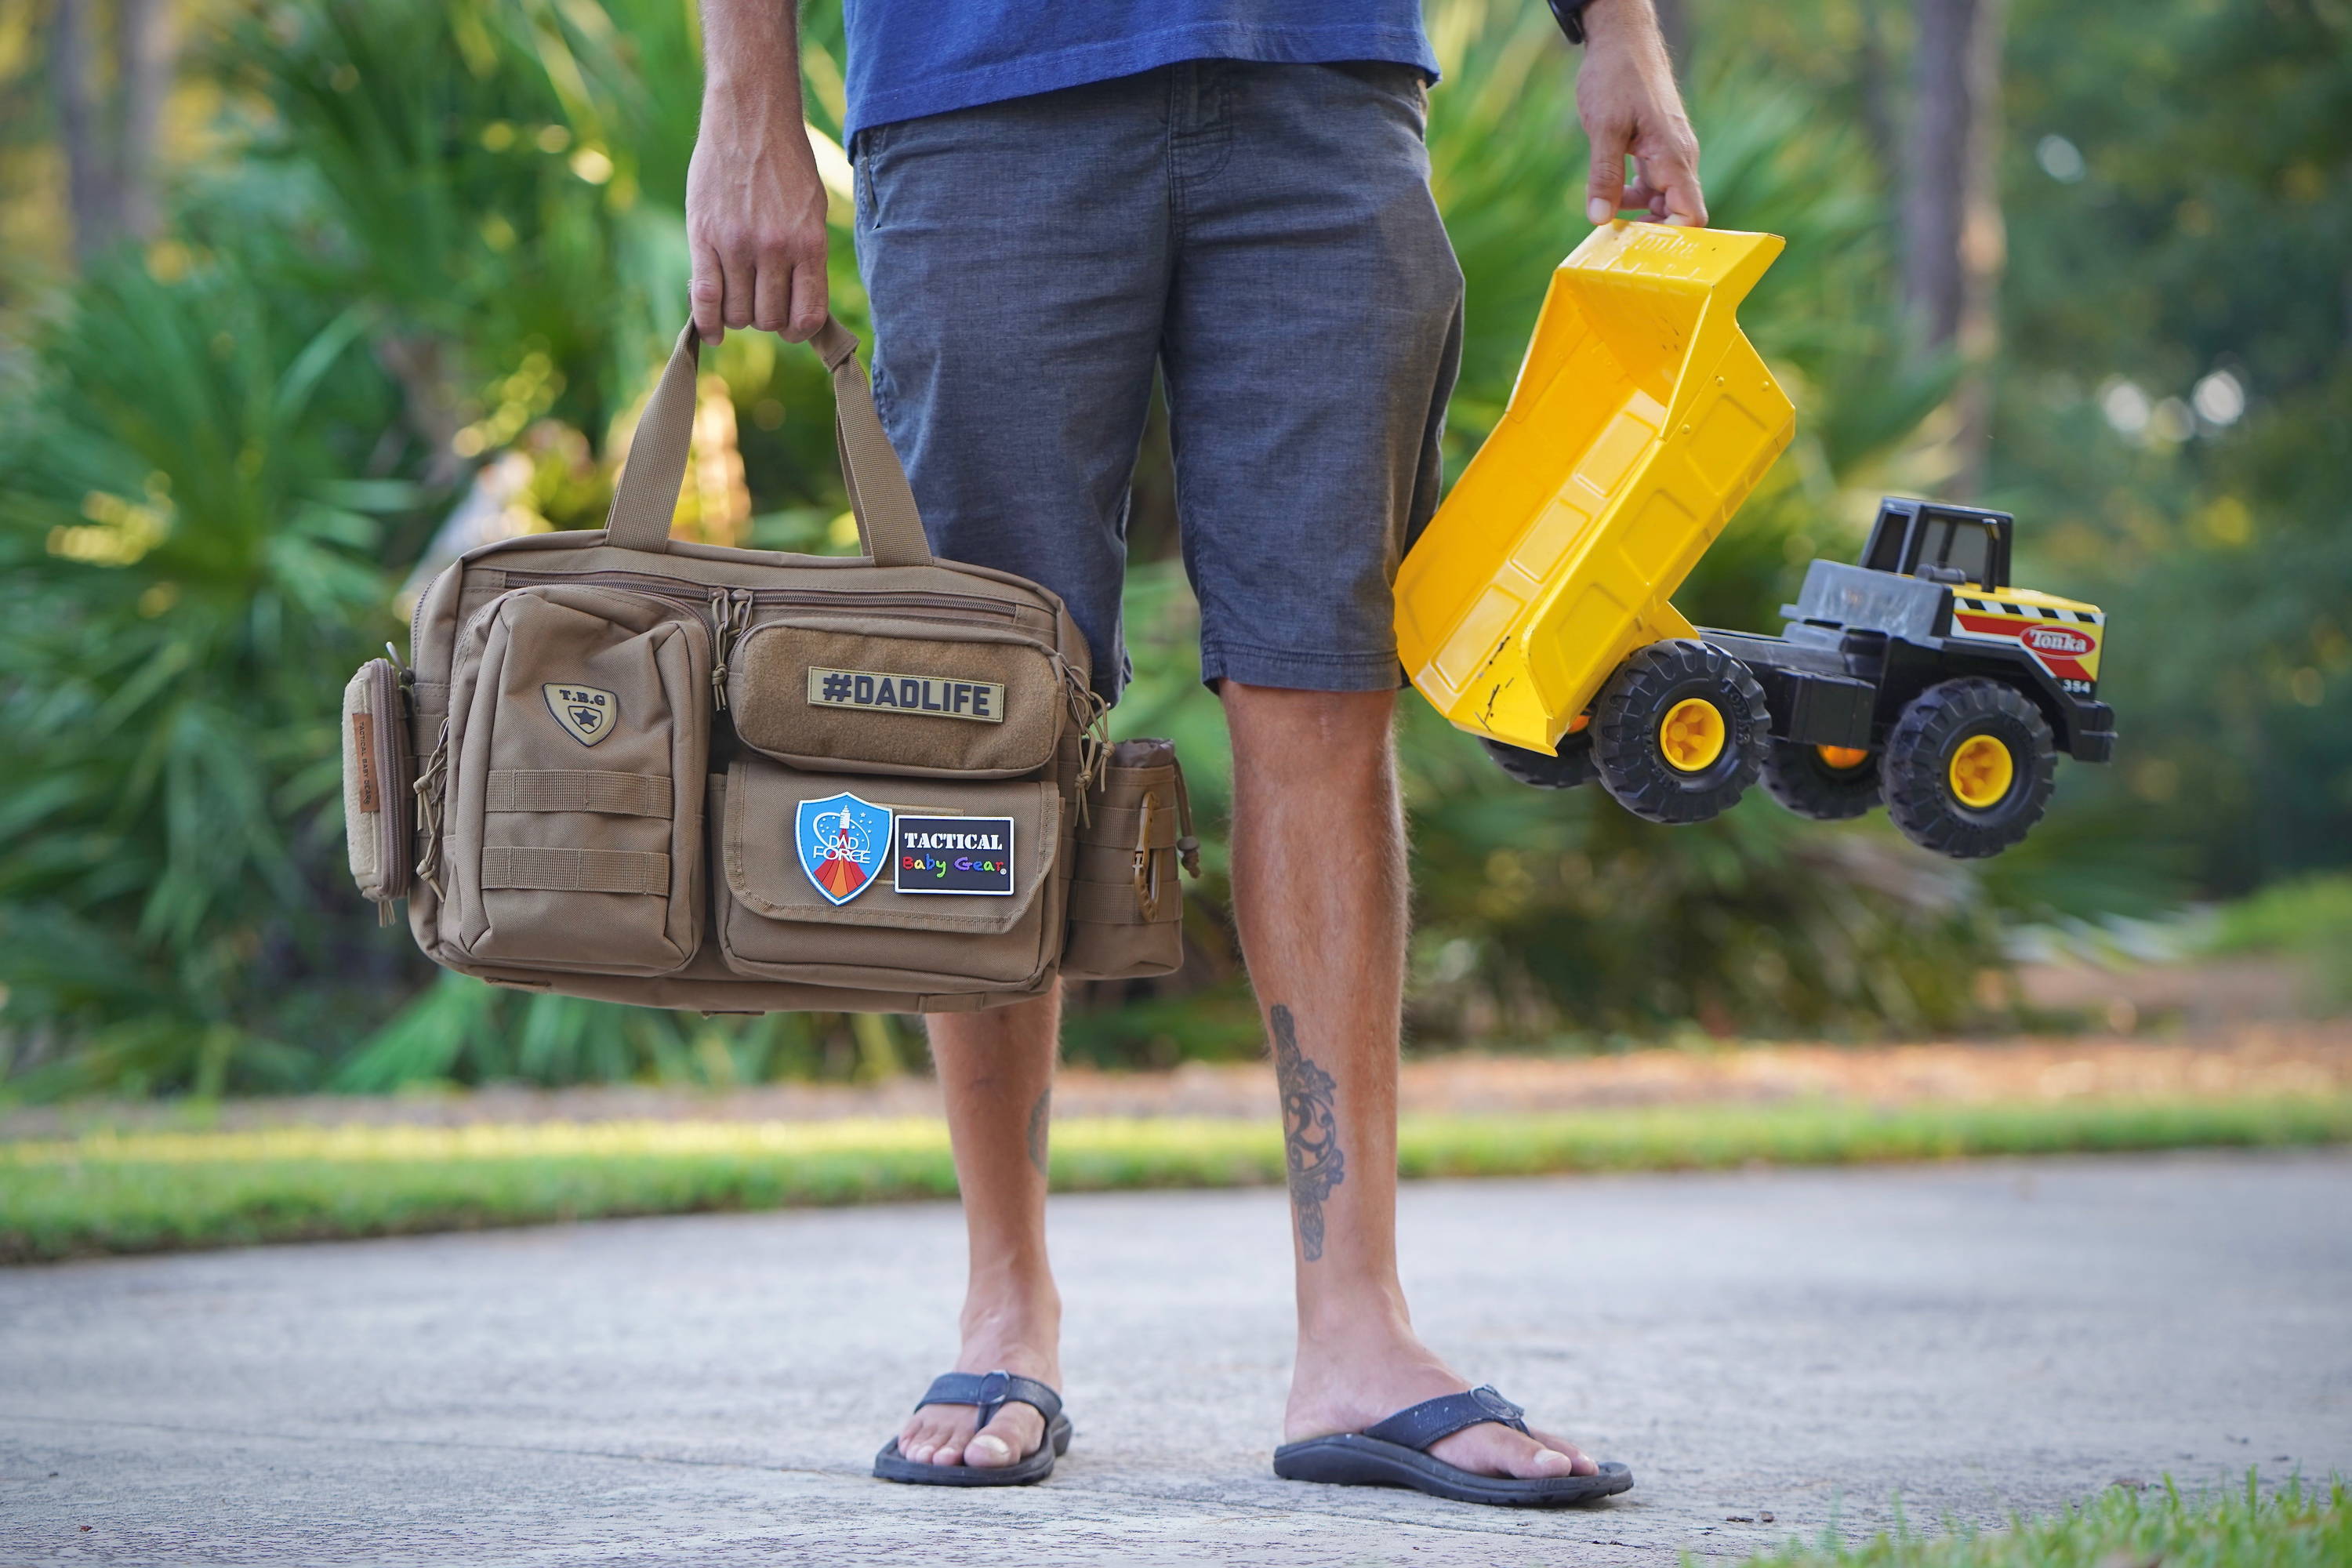
[[[793,618],[743,632],[727,705],[746,745],[793,766],[1011,778],[1054,759],[1073,675],[1018,632]]]

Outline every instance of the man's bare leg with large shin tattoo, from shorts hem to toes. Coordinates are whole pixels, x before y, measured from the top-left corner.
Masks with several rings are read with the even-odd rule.
[[[1291,1157],[1298,1361],[1284,1441],[1362,1432],[1470,1387],[1416,1335],[1397,1284],[1404,811],[1395,691],[1223,684],[1232,907],[1265,1011]],[[1571,1443],[1494,1422],[1432,1455],[1503,1476],[1595,1474]]]

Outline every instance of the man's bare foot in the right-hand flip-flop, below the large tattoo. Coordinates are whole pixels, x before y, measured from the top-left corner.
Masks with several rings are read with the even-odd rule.
[[[1291,1371],[1291,1403],[1282,1415],[1282,1441],[1298,1443],[1334,1432],[1362,1432],[1406,1406],[1439,1394],[1461,1394],[1468,1378],[1439,1361],[1404,1324],[1350,1324],[1298,1338]],[[1463,1427],[1430,1443],[1430,1455],[1479,1476],[1595,1476],[1599,1465],[1576,1443],[1529,1427],[1501,1422]]]

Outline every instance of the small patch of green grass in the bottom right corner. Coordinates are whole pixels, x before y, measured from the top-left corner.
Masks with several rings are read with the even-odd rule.
[[[1684,1563],[1691,1559],[1684,1556]],[[2267,1497],[2253,1474],[2244,1493],[2183,1497],[2161,1488],[2107,1488],[2051,1519],[2006,1530],[1900,1530],[1863,1544],[1790,1544],[1748,1568],[2343,1568],[2352,1563],[2352,1493],[2343,1481],[2288,1481]]]

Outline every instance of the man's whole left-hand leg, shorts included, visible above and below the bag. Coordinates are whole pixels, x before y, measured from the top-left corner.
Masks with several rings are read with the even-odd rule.
[[[1094,686],[1120,689],[1127,491],[1167,301],[1167,82],[1096,82],[858,136],[875,402],[938,555],[1063,597]],[[1044,1255],[1056,997],[931,1020],[971,1274],[955,1371],[1061,1385]],[[1009,1465],[1044,1420],[1007,1403],[906,1420],[898,1450]]]

